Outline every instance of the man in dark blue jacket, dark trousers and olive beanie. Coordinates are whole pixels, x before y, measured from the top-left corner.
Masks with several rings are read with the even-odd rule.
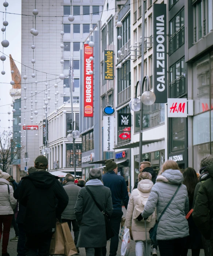
[[[124,177],[117,175],[117,164],[112,160],[105,162],[107,173],[102,176],[104,186],[108,187],[112,193],[112,205],[113,211],[110,217],[111,227],[114,233],[114,237],[111,238],[109,256],[115,256],[117,254],[117,248],[119,243],[119,230],[120,223],[123,216],[122,201],[127,209],[129,196],[127,191],[127,185]],[[102,249],[102,255],[106,256],[107,249]]]

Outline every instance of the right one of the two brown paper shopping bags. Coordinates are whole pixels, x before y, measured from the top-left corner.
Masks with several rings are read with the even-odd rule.
[[[78,253],[67,222],[61,223],[61,226],[63,230],[64,254],[71,256]]]

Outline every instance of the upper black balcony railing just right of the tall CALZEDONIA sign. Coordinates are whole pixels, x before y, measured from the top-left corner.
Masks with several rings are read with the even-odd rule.
[[[185,41],[185,27],[182,26],[177,32],[175,32],[170,38],[169,38],[169,53],[172,54],[175,52],[179,47],[181,47],[184,44]]]

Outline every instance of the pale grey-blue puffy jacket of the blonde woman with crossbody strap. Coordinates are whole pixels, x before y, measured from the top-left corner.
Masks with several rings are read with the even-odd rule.
[[[158,219],[173,197],[178,185],[182,182],[183,175],[179,170],[169,169],[164,171],[162,175],[158,175],[142,216],[148,218],[156,208]],[[157,240],[172,240],[188,236],[189,226],[185,218],[188,211],[188,193],[186,186],[182,184],[169,208],[167,208],[158,223]]]

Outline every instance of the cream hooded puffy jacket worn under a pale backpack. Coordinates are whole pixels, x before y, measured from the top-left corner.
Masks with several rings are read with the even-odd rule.
[[[153,182],[150,181],[149,179],[142,179],[142,181],[139,181],[138,183],[138,189],[134,189],[131,193],[131,196],[129,197],[125,226],[132,227],[132,236],[133,236],[133,240],[135,241],[146,240],[144,221],[143,220],[138,221],[137,219],[135,219],[135,217],[141,213],[141,212],[137,213],[136,211],[136,201],[139,196],[139,193],[144,197],[149,197],[150,191],[153,185],[154,185]],[[156,219],[156,216],[154,211],[151,221],[146,222],[148,241],[150,241],[149,230],[155,225],[155,219]]]

